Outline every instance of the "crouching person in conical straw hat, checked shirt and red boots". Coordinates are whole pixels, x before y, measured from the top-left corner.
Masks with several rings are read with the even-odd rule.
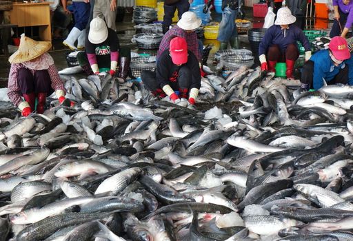
[[[22,116],[28,116],[35,110],[36,98],[37,113],[43,114],[46,96],[52,94],[53,90],[59,103],[65,101],[63,82],[52,56],[47,53],[50,48],[50,42],[34,41],[21,34],[19,50],[8,59],[11,63],[8,98],[21,109]]]

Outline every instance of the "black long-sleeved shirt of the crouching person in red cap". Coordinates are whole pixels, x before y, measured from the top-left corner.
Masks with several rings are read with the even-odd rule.
[[[170,85],[173,90],[179,90],[178,76],[179,69],[186,65],[192,72],[192,79],[190,79],[190,90],[192,88],[200,89],[201,87],[201,73],[199,68],[199,61],[197,61],[194,54],[188,51],[188,62],[183,65],[174,65],[172,57],[169,55],[169,49],[165,50],[158,59],[156,80],[159,83],[161,89],[164,85]]]

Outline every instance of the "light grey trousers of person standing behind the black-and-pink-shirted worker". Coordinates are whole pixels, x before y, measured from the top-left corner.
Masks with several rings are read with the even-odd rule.
[[[111,1],[117,0],[96,0],[94,2],[93,18],[100,17],[101,19],[105,19],[105,23],[107,23],[108,28],[116,31],[117,28],[115,26],[115,19],[117,18],[117,10],[110,10]]]

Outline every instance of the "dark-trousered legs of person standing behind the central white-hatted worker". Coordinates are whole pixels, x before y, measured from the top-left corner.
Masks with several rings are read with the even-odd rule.
[[[172,25],[172,19],[174,17],[175,10],[178,10],[178,17],[181,19],[181,15],[189,10],[190,3],[189,0],[165,0],[163,8],[164,17],[162,30],[163,34],[165,34],[169,30],[170,25]]]

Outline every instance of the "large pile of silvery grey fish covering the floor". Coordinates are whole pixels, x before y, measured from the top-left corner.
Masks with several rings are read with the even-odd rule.
[[[72,107],[0,105],[0,240],[353,240],[353,87],[239,67],[190,106],[63,79]]]

